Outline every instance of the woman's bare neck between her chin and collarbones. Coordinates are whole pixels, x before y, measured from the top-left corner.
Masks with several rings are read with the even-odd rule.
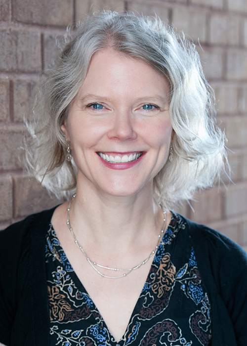
[[[151,184],[128,197],[109,196],[79,185],[70,221],[84,243],[111,248],[120,242],[129,248],[147,233],[156,235],[162,225],[162,210],[153,199]]]

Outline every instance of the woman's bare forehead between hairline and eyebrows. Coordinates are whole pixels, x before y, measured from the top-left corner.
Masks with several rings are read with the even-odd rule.
[[[146,62],[104,49],[93,55],[80,89],[80,94],[102,92],[123,97],[150,93],[167,97],[169,86],[165,77]]]

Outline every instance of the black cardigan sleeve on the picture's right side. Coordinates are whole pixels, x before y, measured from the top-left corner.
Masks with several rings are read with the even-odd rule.
[[[230,335],[229,320],[236,339],[233,344],[228,340],[229,345],[237,343],[238,346],[247,346],[246,251],[223,234],[202,225],[194,227],[192,238],[196,244],[196,257],[200,261],[206,287],[209,291],[215,291],[213,296],[216,300],[213,306],[217,310],[214,318],[216,321],[213,321],[215,329],[223,330],[224,336],[228,333]],[[213,314],[214,311],[212,316]],[[213,338],[214,334],[212,340]]]

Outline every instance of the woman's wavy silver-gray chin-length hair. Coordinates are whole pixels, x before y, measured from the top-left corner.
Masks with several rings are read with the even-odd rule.
[[[174,159],[154,178],[154,195],[165,208],[174,208],[196,190],[212,186],[227,158],[224,133],[215,125],[214,93],[195,45],[159,18],[102,11],[78,26],[42,84],[35,121],[28,125],[28,165],[58,198],[75,192],[77,167],[73,159],[66,160],[61,125],[93,54],[109,46],[146,62],[169,83]]]

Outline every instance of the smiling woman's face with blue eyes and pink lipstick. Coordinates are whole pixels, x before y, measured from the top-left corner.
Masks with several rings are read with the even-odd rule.
[[[92,57],[61,128],[78,185],[114,196],[150,191],[169,152],[168,94],[165,78],[142,61],[111,49]]]

